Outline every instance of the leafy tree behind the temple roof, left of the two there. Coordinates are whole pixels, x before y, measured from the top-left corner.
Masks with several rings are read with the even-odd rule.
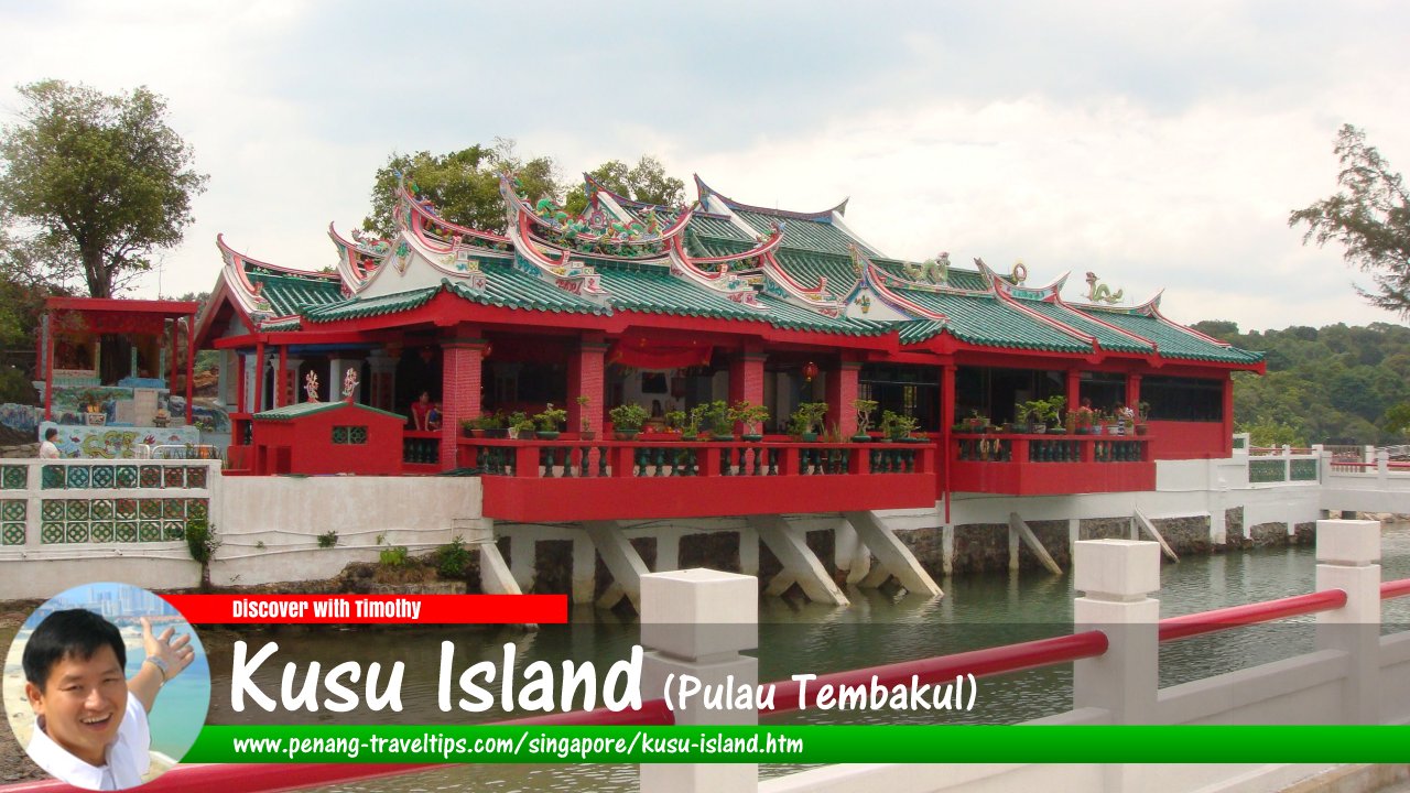
[[[362,229],[391,238],[396,233],[392,223],[396,212],[398,175],[415,186],[417,195],[430,199],[441,217],[458,226],[485,231],[505,231],[505,203],[499,196],[499,174],[513,171],[530,200],[560,195],[557,169],[548,157],[527,162],[515,154],[515,141],[495,138],[492,145],[475,144],[450,154],[393,154],[378,168],[372,185],[372,213],[362,220]]]

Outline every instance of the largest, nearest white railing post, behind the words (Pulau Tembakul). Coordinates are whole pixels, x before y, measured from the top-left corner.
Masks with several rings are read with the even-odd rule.
[[[642,576],[642,696],[660,698],[671,687],[675,724],[759,724],[749,708],[706,710],[702,694],[732,706],[742,686],[759,686],[759,659],[740,655],[759,646],[759,580],[716,570],[673,570]],[[697,694],[681,701],[681,676],[699,682]],[[753,697],[750,697],[753,698]],[[643,763],[642,793],[750,793],[759,790],[754,763]]]

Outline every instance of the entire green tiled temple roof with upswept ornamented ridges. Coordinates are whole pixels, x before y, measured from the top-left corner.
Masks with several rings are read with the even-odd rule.
[[[221,316],[252,333],[392,327],[427,322],[424,312],[489,323],[561,315],[612,332],[685,317],[742,323],[740,333],[870,339],[883,353],[988,349],[1262,367],[1259,353],[1166,319],[1159,295],[1122,305],[1122,292],[1090,272],[1087,293],[1069,302],[1066,275],[1032,286],[1021,262],[995,272],[977,258],[952,265],[948,253],[921,262],[887,257],[846,226],[846,200],[821,212],[767,209],[697,176],[698,200],[673,207],[584,178],[588,207],[571,217],[551,199],[530,202],[505,174],[505,234],[451,223],[399,186],[392,238],[347,238],[330,224],[337,264],[323,272],[257,261],[217,238],[226,265],[200,334]]]

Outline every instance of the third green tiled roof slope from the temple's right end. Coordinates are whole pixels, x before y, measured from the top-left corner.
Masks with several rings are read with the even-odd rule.
[[[1091,347],[1056,327],[1007,306],[988,295],[960,295],[950,292],[921,292],[907,289],[907,298],[928,309],[943,313],[945,329],[960,341],[986,347],[1017,347],[1021,350],[1053,350],[1087,353]],[[935,329],[939,332],[939,329]],[[933,336],[935,333],[931,333]],[[902,330],[902,340],[922,341],[929,336]]]

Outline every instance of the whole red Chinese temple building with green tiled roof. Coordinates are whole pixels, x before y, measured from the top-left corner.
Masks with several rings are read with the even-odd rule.
[[[254,452],[261,426],[279,447],[357,437],[399,443],[403,474],[481,476],[486,516],[589,521],[1139,491],[1156,460],[1231,454],[1231,374],[1262,373],[1262,354],[1170,322],[1159,295],[1124,303],[1089,272],[1069,301],[1066,275],[1035,285],[1022,264],[887,257],[847,227],[846,202],[784,212],[695,185],[692,206],[668,207],[588,178],[570,217],[505,175],[503,233],[402,188],[395,236],[330,226],[337,265],[321,272],[217,238],[195,346],[224,353],[230,473],[386,473],[385,454]],[[290,411],[351,381],[345,399],[405,416],[399,433]],[[721,401],[763,406],[764,437],[718,420],[697,436],[687,416]],[[818,402],[823,440],[785,435]],[[495,437],[536,413],[553,432]]]

